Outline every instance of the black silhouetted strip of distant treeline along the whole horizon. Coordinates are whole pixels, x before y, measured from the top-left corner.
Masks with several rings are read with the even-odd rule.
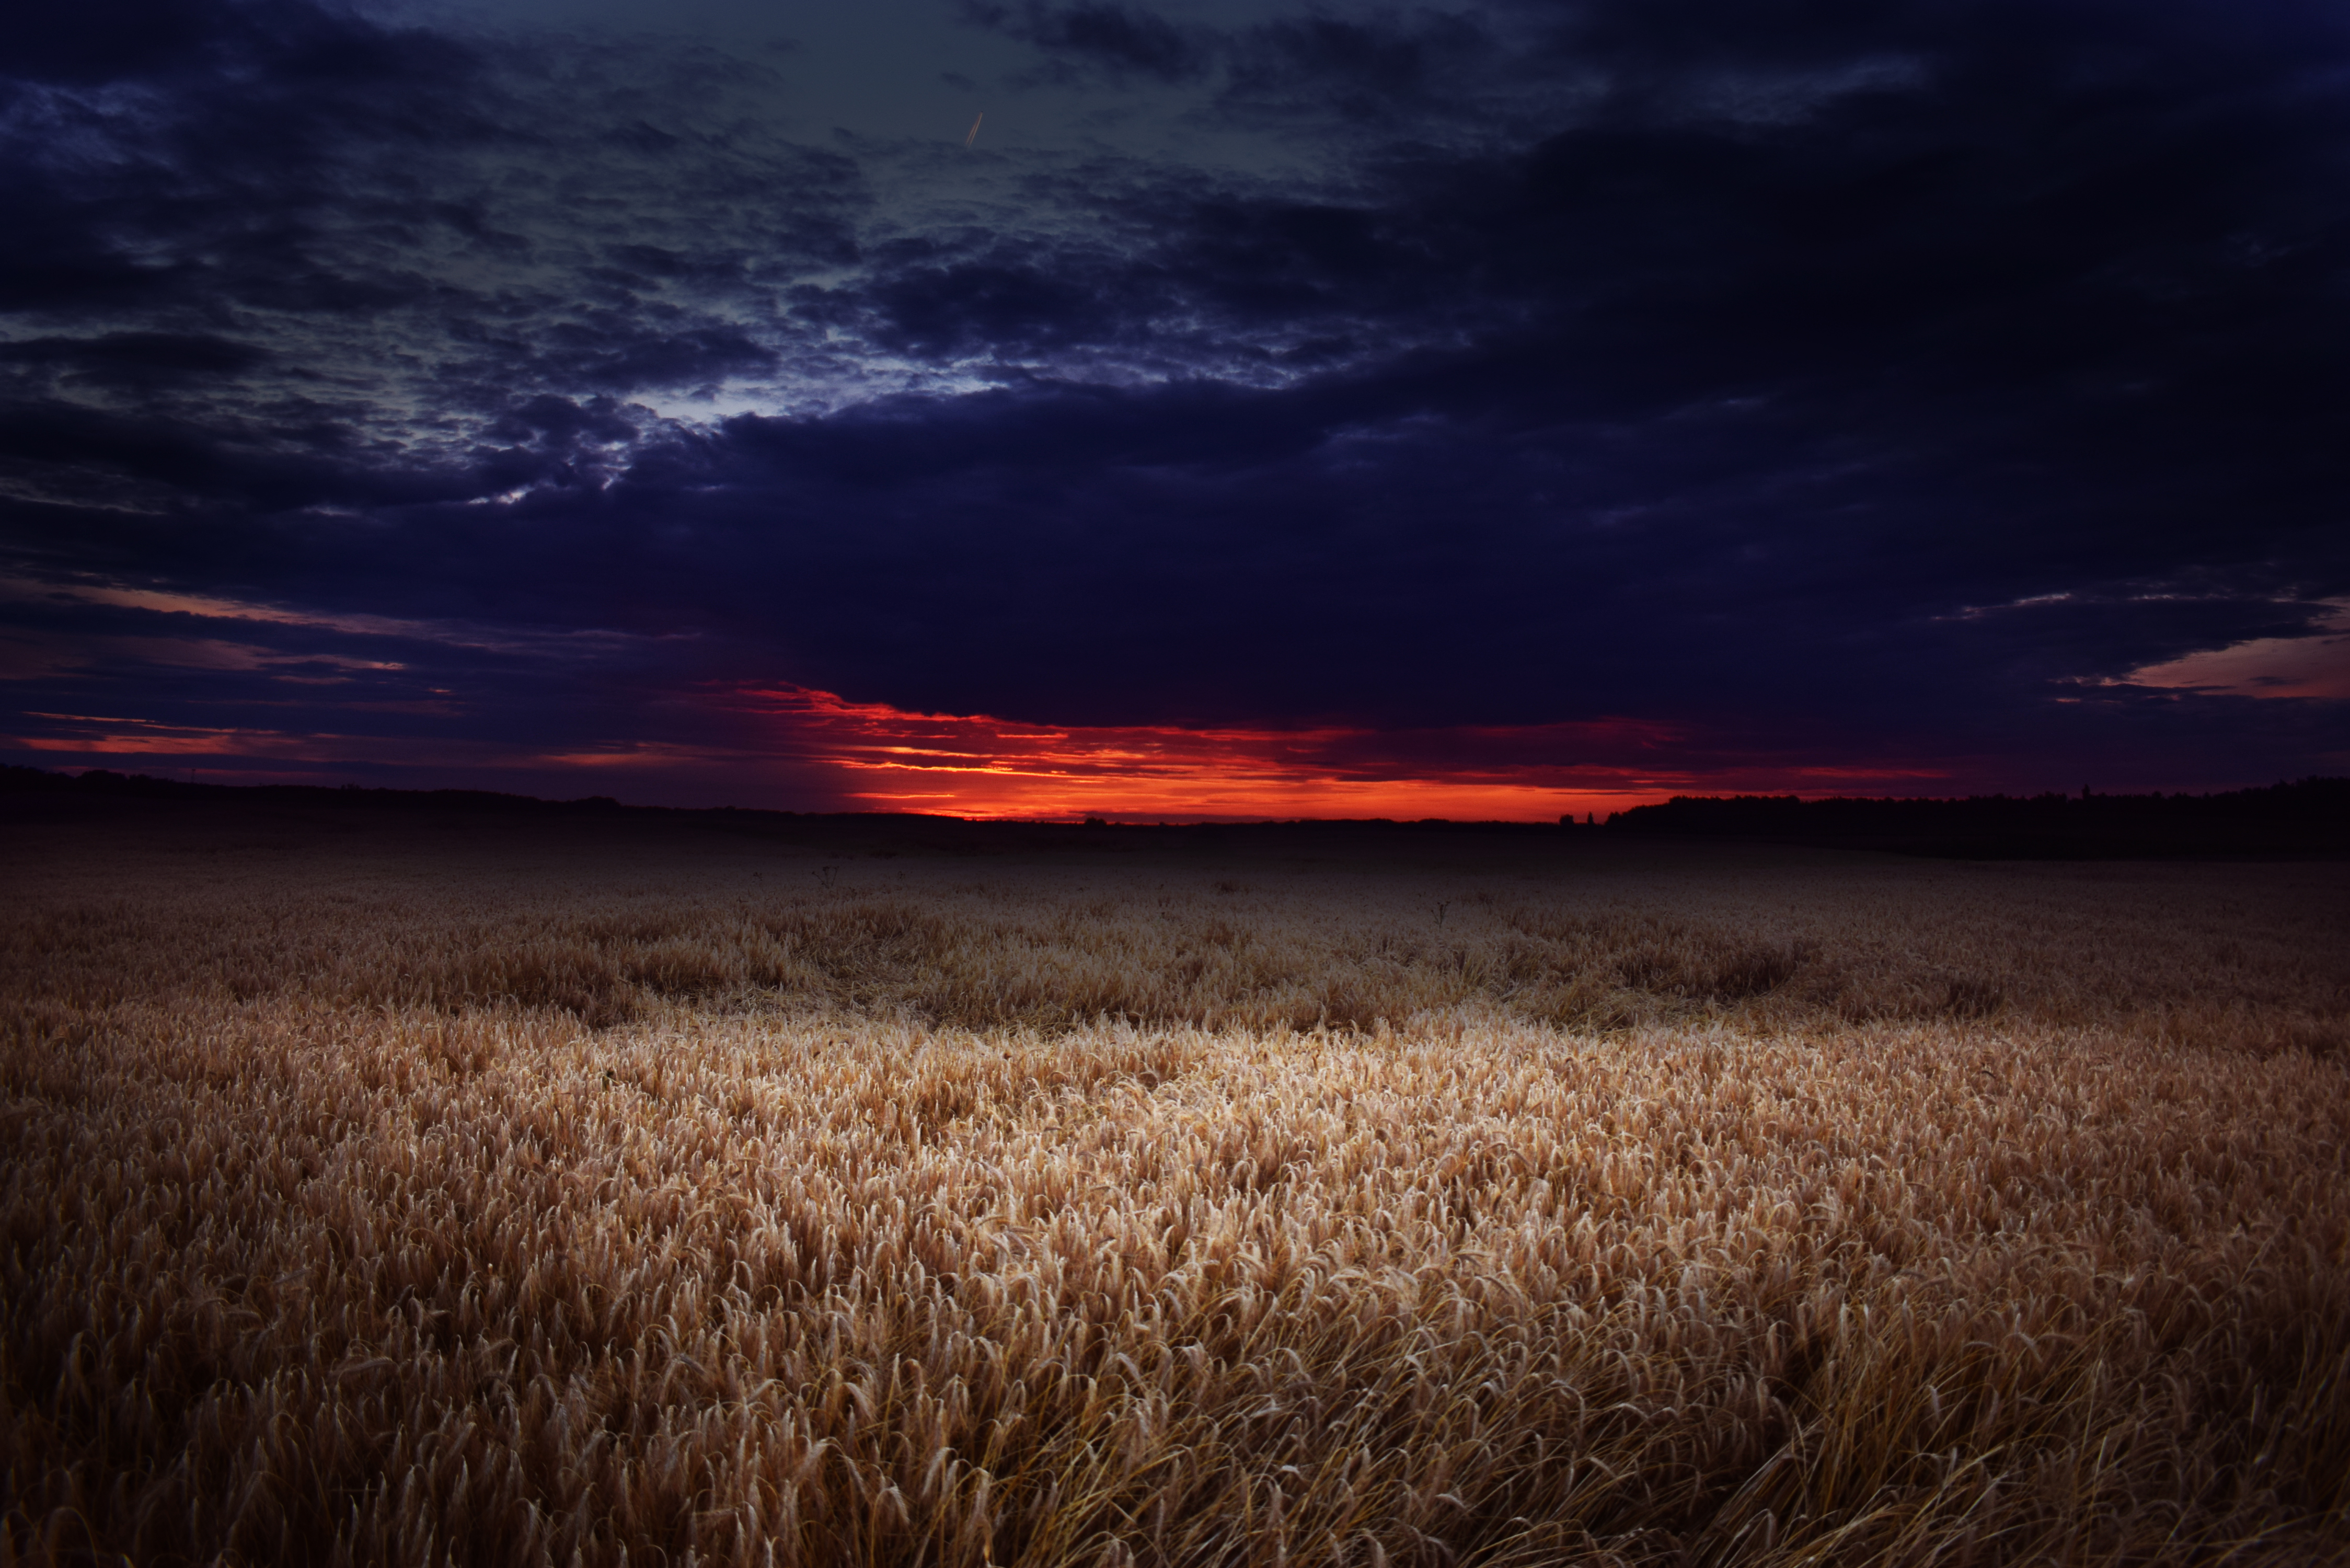
[[[221,802],[247,806],[284,809],[336,809],[336,811],[439,811],[439,813],[529,813],[529,816],[583,816],[627,813],[663,818],[705,818],[712,825],[757,830],[761,823],[834,823],[841,827],[886,823],[947,827],[980,832],[985,837],[1048,835],[1055,844],[1072,842],[1065,823],[961,823],[956,818],[914,818],[888,813],[820,813],[747,811],[721,806],[712,811],[672,811],[663,806],[623,806],[597,795],[571,802],[548,802],[529,795],[498,795],[491,790],[374,790],[357,785],[207,785],[179,778],[150,778],[146,773],[113,773],[89,769],[87,773],[52,773],[45,769],[0,766],[0,797],[16,797],[19,809],[9,816],[24,818],[26,797],[47,804],[99,804],[99,802]],[[35,816],[40,811],[35,809]],[[1109,825],[1086,818],[1081,832],[1112,835],[1250,835],[1264,830],[1314,830],[1314,827],[1363,827],[1363,830],[1490,830],[1490,832],[1544,832],[1528,823],[1215,823],[1201,827],[1144,827]],[[1605,823],[1577,825],[1560,818],[1560,827],[1572,835],[1596,835],[1610,839],[1657,837],[1657,839],[1723,839],[1767,844],[1814,844],[1828,849],[1868,849],[1904,856],[1939,856],[1955,860],[2117,860],[2117,858],[2171,858],[2171,856],[2258,856],[2258,858],[2308,858],[2350,856],[2350,778],[2303,778],[2256,790],[2228,790],[2221,795],[1969,795],[1965,799],[1868,799],[1868,797],[1817,797],[1798,795],[1676,795],[1657,806],[1633,806],[1617,811]],[[956,832],[959,830],[959,832]],[[1083,842],[1083,839],[1076,839]],[[940,842],[938,849],[949,849]]]

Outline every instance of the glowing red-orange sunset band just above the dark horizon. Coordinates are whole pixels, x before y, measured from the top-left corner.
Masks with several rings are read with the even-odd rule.
[[[352,703],[414,712],[421,703]],[[437,701],[435,715],[461,715]],[[1685,792],[1889,792],[1939,778],[1906,766],[1673,766],[1683,736],[1647,719],[1377,731],[1067,726],[909,712],[806,686],[705,689],[691,741],[529,748],[298,729],[209,729],[40,712],[12,745],[63,766],[212,783],[404,783],[435,769],[470,788],[616,795],[649,804],[912,811],[964,818],[1556,820]],[[357,729],[357,726],[355,726]]]

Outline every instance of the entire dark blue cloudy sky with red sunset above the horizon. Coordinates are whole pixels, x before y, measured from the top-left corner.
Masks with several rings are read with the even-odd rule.
[[[2334,0],[87,0],[0,759],[1542,820],[2350,773]]]

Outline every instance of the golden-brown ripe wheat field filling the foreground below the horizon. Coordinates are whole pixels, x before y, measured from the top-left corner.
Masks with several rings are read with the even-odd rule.
[[[7,832],[0,1563],[2350,1561],[2338,865]]]

